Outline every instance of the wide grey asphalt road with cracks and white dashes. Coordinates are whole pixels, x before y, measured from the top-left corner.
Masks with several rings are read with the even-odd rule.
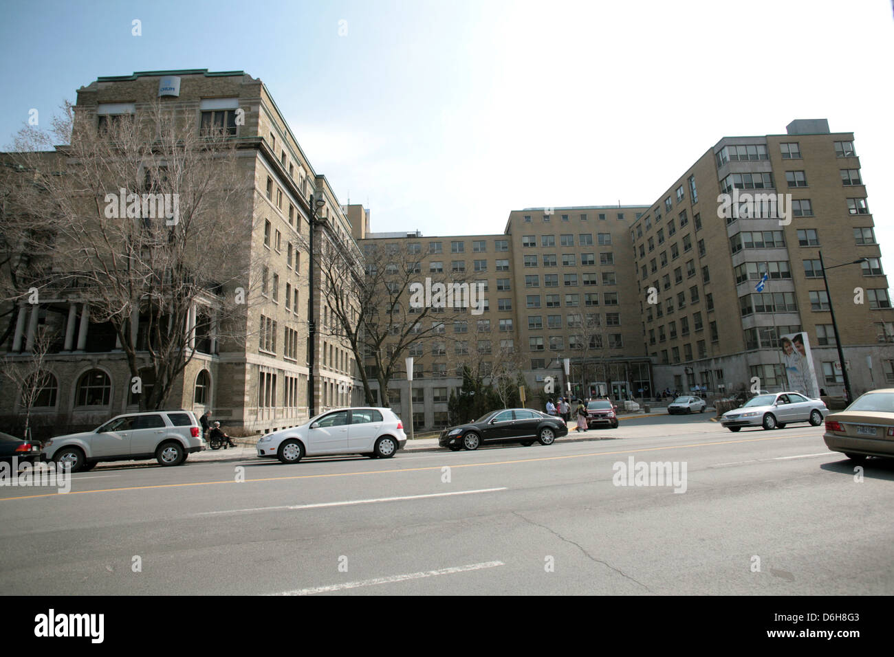
[[[0,591],[894,593],[894,462],[856,481],[822,427],[732,434],[706,415],[591,433],[605,440],[4,486]],[[679,479],[616,485],[629,458]]]

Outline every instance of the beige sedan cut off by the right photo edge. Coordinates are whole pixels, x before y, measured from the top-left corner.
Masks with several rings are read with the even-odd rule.
[[[847,409],[827,416],[822,439],[831,451],[851,460],[894,459],[894,388],[866,392]]]

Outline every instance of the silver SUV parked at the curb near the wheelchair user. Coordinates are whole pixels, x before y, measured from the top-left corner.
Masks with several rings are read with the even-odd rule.
[[[190,410],[154,410],[113,417],[94,431],[61,435],[44,443],[46,459],[89,470],[100,461],[156,459],[179,466],[205,449],[198,420]]]

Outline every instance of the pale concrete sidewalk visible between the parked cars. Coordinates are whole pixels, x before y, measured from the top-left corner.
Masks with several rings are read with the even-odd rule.
[[[708,407],[704,409],[705,417],[709,417],[714,412],[712,407]],[[619,413],[618,418],[620,420],[625,419],[636,419],[638,417],[654,417],[654,416],[666,416],[668,414],[667,407],[659,407],[659,408],[651,408],[649,413],[637,412],[637,413]],[[699,415],[696,413],[696,416]],[[426,434],[432,434],[432,432],[426,432]],[[190,454],[189,459],[187,459],[187,463],[211,463],[211,462],[229,462],[229,461],[244,461],[244,460],[260,460],[257,457],[257,451],[255,449],[255,445],[257,444],[257,440],[260,436],[250,437],[250,438],[235,438],[233,439],[238,447],[230,447],[226,450],[211,450],[206,449],[203,451],[198,451],[193,454]],[[561,442],[586,442],[586,441],[603,441],[603,440],[618,440],[618,436],[613,433],[611,430],[606,429],[590,429],[586,432],[576,432],[574,430],[573,421],[569,425],[569,434],[562,436],[558,439]],[[207,443],[206,443],[207,444]],[[481,449],[488,449],[489,446],[483,445]],[[407,441],[406,446],[401,450],[398,455],[401,453],[407,452],[426,452],[426,451],[443,451],[445,448],[438,446],[438,439],[435,436],[434,438],[418,438],[417,440]],[[96,469],[105,469],[108,467],[139,467],[146,465],[154,465],[156,461],[154,459],[143,460],[143,461],[113,461],[110,463],[98,463]]]

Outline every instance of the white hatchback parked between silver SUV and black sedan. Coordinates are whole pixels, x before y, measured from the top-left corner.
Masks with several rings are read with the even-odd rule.
[[[305,425],[266,434],[257,442],[257,456],[275,457],[283,463],[324,454],[389,459],[406,444],[403,423],[392,409],[336,409],[311,418]]]

